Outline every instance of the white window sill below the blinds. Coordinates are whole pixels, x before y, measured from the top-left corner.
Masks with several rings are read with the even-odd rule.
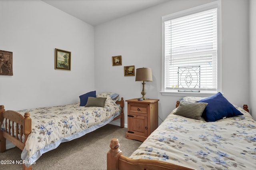
[[[178,92],[178,91],[160,91],[162,95],[168,96],[196,96],[196,97],[209,97],[216,93],[217,91],[204,91],[204,92]]]

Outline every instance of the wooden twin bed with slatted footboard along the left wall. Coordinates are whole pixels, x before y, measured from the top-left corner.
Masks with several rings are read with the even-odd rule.
[[[6,150],[6,139],[22,150],[23,169],[45,152],[120,119],[124,127],[124,100],[116,93],[97,93],[85,106],[81,102],[22,111],[5,111],[0,106],[0,152]],[[97,99],[97,101],[95,100]],[[101,101],[99,101],[100,99]],[[90,102],[89,102],[90,101]],[[99,107],[99,105],[101,105]],[[25,113],[24,116],[20,113]]]

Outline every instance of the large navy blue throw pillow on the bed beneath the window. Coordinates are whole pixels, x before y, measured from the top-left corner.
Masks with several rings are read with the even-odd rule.
[[[244,115],[229,103],[220,92],[198,102],[208,103],[202,114],[206,122],[214,122],[226,117]]]

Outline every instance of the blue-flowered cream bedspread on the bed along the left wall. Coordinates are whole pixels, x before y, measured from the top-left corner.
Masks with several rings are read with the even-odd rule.
[[[105,97],[107,99],[104,107],[83,107],[78,102],[18,111],[21,114],[29,112],[32,119],[32,132],[22,151],[22,159],[33,163],[43,153],[58,147],[61,142],[79,138],[120,115],[120,106],[109,96]]]

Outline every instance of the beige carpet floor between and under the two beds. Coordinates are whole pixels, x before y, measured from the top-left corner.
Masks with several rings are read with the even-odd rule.
[[[32,166],[33,170],[106,170],[109,144],[118,138],[124,156],[130,156],[142,142],[125,138],[127,128],[106,125],[78,139],[61,143],[58,148],[44,153]],[[0,160],[21,160],[17,147],[0,153]],[[19,164],[0,164],[0,170],[19,170]]]

